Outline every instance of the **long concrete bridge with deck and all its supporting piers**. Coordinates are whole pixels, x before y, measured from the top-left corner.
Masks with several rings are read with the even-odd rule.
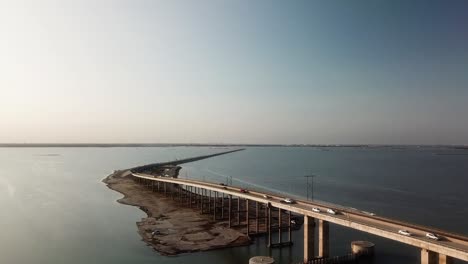
[[[177,163],[183,162],[165,163],[165,165]],[[152,188],[153,191],[172,195],[187,206],[199,208],[202,213],[206,211],[212,213],[214,220],[227,218],[229,227],[234,226],[236,222],[237,225],[242,222],[247,235],[259,233],[263,224],[263,233],[268,235],[269,247],[291,244],[291,214],[302,215],[305,263],[316,256],[329,256],[329,223],[417,247],[421,250],[422,264],[446,264],[452,263],[453,259],[468,261],[468,237],[462,235],[323,202],[297,200],[290,204],[284,202],[284,196],[274,193],[246,191],[235,186],[151,175],[141,173],[142,170],[135,171],[131,171],[131,177]],[[313,211],[312,208],[318,208],[320,212]],[[334,210],[336,214],[327,213],[328,209]],[[272,214],[275,214],[275,219]],[[318,245],[314,245],[316,229]],[[288,231],[287,240],[281,237],[284,230]],[[399,234],[399,230],[407,230],[411,236]],[[272,233],[275,231],[278,231],[277,243],[273,243]],[[427,238],[428,232],[437,234],[440,239]]]

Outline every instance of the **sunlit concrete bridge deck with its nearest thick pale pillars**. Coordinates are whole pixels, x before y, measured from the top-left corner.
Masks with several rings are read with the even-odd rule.
[[[243,193],[240,188],[234,186],[222,186],[203,181],[160,177],[142,173],[132,173],[132,176],[145,181],[178,184],[184,187],[190,186],[190,188],[214,191],[266,204],[268,205],[268,208],[276,207],[304,215],[305,261],[316,255],[313,245],[315,219],[318,219],[318,256],[328,256],[328,223],[334,223],[418,247],[421,249],[421,263],[451,263],[452,258],[468,261],[468,237],[436,230],[431,227],[424,227],[389,218],[372,216],[338,205],[330,205],[316,201],[311,202],[297,200],[294,204],[286,204],[282,202],[284,199],[284,196],[282,195],[258,191],[248,191],[247,193]],[[264,198],[264,195],[267,195],[268,198]],[[312,211],[313,207],[319,208],[321,212],[317,213]],[[327,209],[334,209],[338,213],[336,215],[328,214],[326,212]],[[401,235],[398,233],[398,230],[400,229],[408,230],[412,235]],[[425,236],[427,232],[438,234],[441,239],[438,241],[431,240]]]

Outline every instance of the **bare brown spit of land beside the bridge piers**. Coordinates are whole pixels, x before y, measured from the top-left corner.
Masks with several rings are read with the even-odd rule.
[[[177,173],[177,167],[174,168]],[[137,232],[161,255],[175,256],[251,243],[247,235],[229,228],[227,221],[215,222],[208,215],[180,206],[172,199],[136,184],[127,177],[129,174],[129,170],[115,171],[102,182],[123,195],[118,203],[136,206],[146,213],[146,217],[136,222]]]

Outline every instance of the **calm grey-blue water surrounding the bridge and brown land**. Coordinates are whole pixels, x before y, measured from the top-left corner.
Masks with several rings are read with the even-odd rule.
[[[203,155],[222,149],[0,148],[0,263],[248,263],[272,254],[302,259],[302,233],[292,248],[250,247],[162,257],[147,247],[135,222],[144,214],[118,204],[101,183],[114,169]],[[314,197],[379,215],[468,235],[468,151],[446,148],[248,148],[183,166],[181,177],[305,196],[303,175],[315,174]],[[376,263],[416,263],[419,251],[331,226],[331,253],[350,242],[377,244]]]

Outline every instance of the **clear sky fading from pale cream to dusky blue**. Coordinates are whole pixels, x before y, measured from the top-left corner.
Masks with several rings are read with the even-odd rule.
[[[467,13],[0,0],[0,143],[468,144]]]

